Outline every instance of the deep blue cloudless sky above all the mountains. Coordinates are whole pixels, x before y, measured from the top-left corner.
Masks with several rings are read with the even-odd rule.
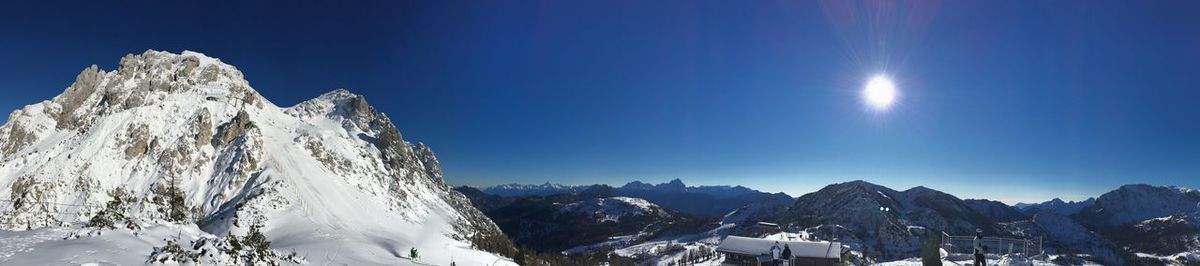
[[[280,105],[366,95],[460,185],[1200,187],[1196,1],[337,2],[6,1],[0,110],[188,49]]]

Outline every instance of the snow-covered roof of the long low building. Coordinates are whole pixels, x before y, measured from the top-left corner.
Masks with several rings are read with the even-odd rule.
[[[798,258],[840,259],[841,243],[839,242],[809,242],[809,241],[782,241],[742,236],[726,236],[721,244],[716,246],[716,252],[762,255],[769,254],[770,247],[779,243],[792,249],[792,255]]]

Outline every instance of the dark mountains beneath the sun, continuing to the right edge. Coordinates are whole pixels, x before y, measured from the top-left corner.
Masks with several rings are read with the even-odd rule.
[[[1096,199],[1054,199],[1021,210],[924,187],[895,192],[854,181],[800,197],[781,220],[809,230],[845,228],[846,235],[838,238],[851,243],[857,238],[865,255],[876,259],[914,256],[912,241],[930,234],[920,229],[972,235],[978,228],[990,236],[1042,237],[1050,254],[1110,265],[1159,265],[1200,262],[1198,217],[1200,192],[1177,187],[1128,185]]]

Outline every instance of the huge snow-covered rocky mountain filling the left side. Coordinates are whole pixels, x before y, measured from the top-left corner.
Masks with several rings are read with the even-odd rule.
[[[236,68],[199,53],[151,50],[125,56],[116,71],[89,67],[62,95],[7,121],[7,230],[78,225],[120,189],[136,199],[121,211],[142,228],[196,224],[197,234],[221,237],[262,224],[271,248],[310,261],[410,264],[402,256],[418,248],[420,261],[490,264],[500,258],[472,242],[506,242],[444,183],[432,151],[404,141],[362,96],[337,90],[280,108]],[[156,200],[172,181],[184,194],[181,222],[168,222],[168,205]]]

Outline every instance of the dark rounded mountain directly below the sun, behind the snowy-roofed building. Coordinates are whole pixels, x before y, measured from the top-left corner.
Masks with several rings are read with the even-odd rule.
[[[896,192],[865,181],[829,185],[805,194],[780,222],[859,246],[871,258],[916,254],[926,234],[934,230],[950,235],[967,235],[976,229],[985,234],[1000,231],[994,220],[956,197],[925,187]]]

